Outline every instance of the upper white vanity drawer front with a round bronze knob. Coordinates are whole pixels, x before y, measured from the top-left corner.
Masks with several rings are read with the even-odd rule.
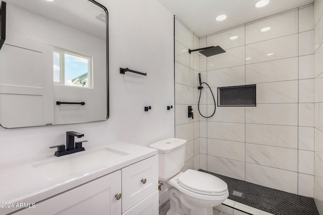
[[[121,171],[122,212],[125,212],[157,190],[158,156],[147,158],[125,167]]]

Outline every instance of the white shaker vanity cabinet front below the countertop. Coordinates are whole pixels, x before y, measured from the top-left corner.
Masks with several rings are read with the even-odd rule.
[[[157,215],[157,188],[158,156],[154,155],[14,214]]]

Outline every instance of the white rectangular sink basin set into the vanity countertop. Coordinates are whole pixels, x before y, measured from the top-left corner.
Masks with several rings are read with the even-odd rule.
[[[101,148],[40,162],[33,164],[32,167],[48,180],[52,180],[70,174],[86,174],[99,170],[126,155],[129,154],[110,148]]]

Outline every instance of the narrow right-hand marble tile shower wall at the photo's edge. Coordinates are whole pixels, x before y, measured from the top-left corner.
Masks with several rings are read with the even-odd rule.
[[[323,213],[323,1],[314,1],[314,200]],[[312,132],[312,131],[311,131]],[[303,138],[305,140],[305,136]],[[305,167],[303,167],[305,171]],[[308,171],[312,171],[308,170]]]

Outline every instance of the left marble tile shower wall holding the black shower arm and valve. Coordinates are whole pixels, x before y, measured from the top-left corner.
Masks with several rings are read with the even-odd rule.
[[[200,168],[200,126],[197,114],[199,56],[188,49],[199,48],[196,37],[175,18],[175,137],[187,140],[183,170]],[[194,119],[188,118],[192,106]]]

